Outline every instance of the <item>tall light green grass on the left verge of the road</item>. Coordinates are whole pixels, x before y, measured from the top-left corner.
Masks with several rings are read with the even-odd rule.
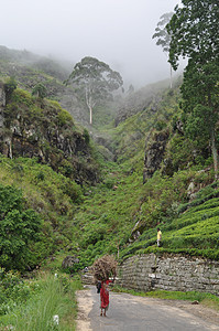
[[[81,288],[79,278],[44,274],[35,281],[35,288],[37,291],[25,303],[0,318],[0,330],[9,327],[18,331],[75,330],[75,291]],[[58,316],[58,324],[54,316]]]

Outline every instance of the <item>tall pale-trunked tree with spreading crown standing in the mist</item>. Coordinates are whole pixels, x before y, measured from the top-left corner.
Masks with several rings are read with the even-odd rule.
[[[123,84],[118,72],[90,56],[84,57],[75,65],[65,83],[72,83],[85,97],[90,114],[90,125],[92,124],[92,110],[97,103],[112,98],[112,92]]]

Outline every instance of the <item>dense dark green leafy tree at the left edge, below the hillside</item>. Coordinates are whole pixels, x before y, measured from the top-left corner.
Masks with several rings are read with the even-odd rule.
[[[25,270],[32,263],[32,244],[39,241],[41,218],[24,209],[20,190],[0,184],[0,265]]]

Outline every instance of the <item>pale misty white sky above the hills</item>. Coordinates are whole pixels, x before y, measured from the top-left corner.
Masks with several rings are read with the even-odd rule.
[[[0,0],[0,45],[79,62],[94,56],[134,86],[169,76],[152,35],[179,0]]]

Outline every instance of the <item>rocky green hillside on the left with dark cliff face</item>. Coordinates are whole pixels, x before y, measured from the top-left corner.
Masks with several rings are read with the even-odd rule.
[[[24,273],[69,247],[73,215],[100,169],[87,130],[11,79],[0,82],[0,264]]]

